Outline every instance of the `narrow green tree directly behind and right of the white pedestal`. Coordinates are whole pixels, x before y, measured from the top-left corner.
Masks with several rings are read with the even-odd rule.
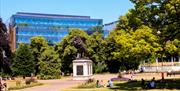
[[[94,32],[87,40],[89,58],[93,61],[95,73],[107,71],[105,41],[103,34]]]

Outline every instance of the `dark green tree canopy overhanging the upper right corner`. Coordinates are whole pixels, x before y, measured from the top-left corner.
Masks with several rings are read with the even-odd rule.
[[[120,17],[117,30],[136,30],[146,25],[154,34],[161,31],[161,41],[180,38],[180,0],[130,0],[135,8]]]

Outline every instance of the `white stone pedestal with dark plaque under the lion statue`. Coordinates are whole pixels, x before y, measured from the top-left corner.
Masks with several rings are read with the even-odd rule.
[[[88,80],[92,78],[92,61],[89,59],[76,59],[73,61],[73,80]]]

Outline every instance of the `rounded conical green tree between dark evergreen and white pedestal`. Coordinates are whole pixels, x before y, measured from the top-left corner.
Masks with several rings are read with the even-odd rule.
[[[39,72],[42,79],[55,79],[60,76],[61,61],[54,47],[46,47],[40,55]]]

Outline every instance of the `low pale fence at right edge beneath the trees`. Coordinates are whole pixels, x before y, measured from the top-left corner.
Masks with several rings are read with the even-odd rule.
[[[180,66],[143,66],[144,72],[172,72],[172,71],[180,71]]]

